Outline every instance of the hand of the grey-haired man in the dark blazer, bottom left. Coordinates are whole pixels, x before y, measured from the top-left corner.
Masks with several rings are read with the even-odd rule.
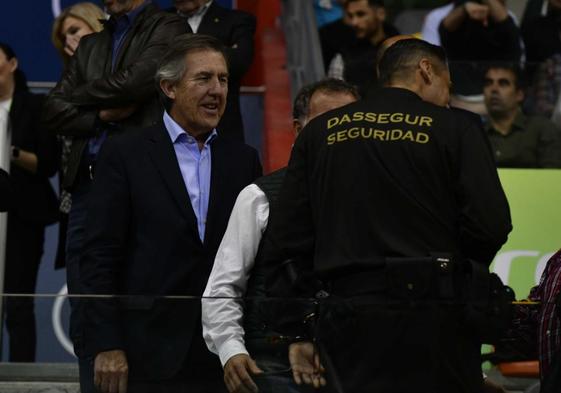
[[[100,352],[94,362],[94,384],[102,393],[127,393],[129,365],[124,351]]]

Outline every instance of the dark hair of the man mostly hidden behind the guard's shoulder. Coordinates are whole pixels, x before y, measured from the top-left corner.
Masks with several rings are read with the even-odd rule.
[[[326,78],[319,82],[306,85],[300,89],[296,98],[294,98],[294,104],[292,105],[292,118],[295,120],[302,121],[310,110],[310,99],[315,92],[323,91],[329,93],[340,93],[349,94],[355,97],[357,100],[360,99],[360,94],[355,85],[345,82],[341,79]]]

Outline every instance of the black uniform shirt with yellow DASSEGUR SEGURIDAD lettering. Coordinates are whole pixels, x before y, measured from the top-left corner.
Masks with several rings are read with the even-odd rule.
[[[311,121],[278,202],[278,260],[321,274],[431,251],[489,264],[511,230],[481,122],[396,88]]]

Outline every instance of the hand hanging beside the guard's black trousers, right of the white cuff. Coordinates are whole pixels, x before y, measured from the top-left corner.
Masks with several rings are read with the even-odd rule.
[[[301,385],[313,385],[319,389],[325,386],[323,373],[325,369],[320,363],[319,354],[310,342],[299,342],[290,344],[288,348],[288,360],[292,368],[294,381]]]

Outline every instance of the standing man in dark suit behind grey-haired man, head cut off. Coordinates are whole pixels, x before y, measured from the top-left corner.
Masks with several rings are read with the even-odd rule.
[[[188,32],[216,37],[227,48],[230,72],[228,104],[218,131],[223,138],[243,142],[240,86],[253,61],[255,17],[247,12],[221,7],[212,0],[174,0],[173,4],[175,7],[171,11],[186,19]]]

